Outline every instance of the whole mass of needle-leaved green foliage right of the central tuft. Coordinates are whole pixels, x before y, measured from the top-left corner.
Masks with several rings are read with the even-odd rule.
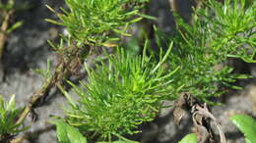
[[[224,93],[221,85],[240,89],[230,83],[237,78],[249,77],[233,74],[233,69],[224,64],[229,57],[255,62],[253,20],[256,20],[256,3],[249,7],[244,3],[244,0],[235,0],[231,4],[227,0],[222,5],[210,0],[206,2],[206,8],[195,11],[193,24],[186,24],[174,14],[178,32],[170,38],[174,47],[169,56],[169,67],[170,71],[180,67],[173,83],[183,84],[182,92],[208,101],[207,97]],[[158,38],[160,41],[162,36],[159,34]]]

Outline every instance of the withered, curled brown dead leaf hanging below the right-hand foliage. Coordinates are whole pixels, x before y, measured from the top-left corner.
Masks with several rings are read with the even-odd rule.
[[[176,124],[180,123],[180,120],[184,117],[186,110],[191,110],[193,123],[200,143],[216,142],[211,122],[213,122],[219,130],[221,143],[226,143],[221,123],[209,111],[206,103],[200,104],[200,102],[189,93],[181,94],[174,103],[173,117]]]

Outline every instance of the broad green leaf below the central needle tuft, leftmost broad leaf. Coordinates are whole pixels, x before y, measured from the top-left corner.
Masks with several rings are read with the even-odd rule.
[[[57,138],[59,143],[87,143],[84,137],[75,127],[70,126],[64,121],[54,122],[57,126]]]

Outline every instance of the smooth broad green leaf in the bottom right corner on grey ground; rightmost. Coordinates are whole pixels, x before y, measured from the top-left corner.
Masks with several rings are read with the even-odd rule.
[[[256,142],[256,120],[245,115],[235,115],[230,118],[245,135],[247,143]]]

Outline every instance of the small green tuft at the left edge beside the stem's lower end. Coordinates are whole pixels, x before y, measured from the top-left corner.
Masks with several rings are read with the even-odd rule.
[[[0,141],[26,129],[21,128],[21,124],[15,123],[21,111],[15,106],[15,95],[11,97],[8,103],[5,103],[0,96]]]

